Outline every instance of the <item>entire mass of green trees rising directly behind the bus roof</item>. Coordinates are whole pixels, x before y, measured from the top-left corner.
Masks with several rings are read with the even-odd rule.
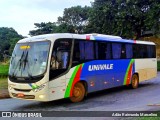
[[[30,35],[101,33],[139,39],[144,31],[160,34],[160,0],[95,0],[91,7],[65,8],[57,22],[35,23]]]

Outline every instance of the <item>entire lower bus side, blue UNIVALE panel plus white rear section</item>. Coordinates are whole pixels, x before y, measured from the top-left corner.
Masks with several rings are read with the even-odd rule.
[[[87,83],[87,93],[131,84],[133,74],[139,75],[139,82],[149,80],[157,75],[156,59],[95,60],[71,69],[66,80],[66,92],[72,94],[74,84]],[[72,75],[70,74],[72,73]],[[69,76],[72,76],[70,79]],[[69,80],[69,81],[68,81]],[[68,85],[67,85],[68,84]]]

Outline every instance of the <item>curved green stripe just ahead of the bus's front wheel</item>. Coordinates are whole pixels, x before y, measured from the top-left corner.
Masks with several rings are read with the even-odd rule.
[[[65,95],[64,95],[65,98],[70,96],[70,90],[71,90],[71,87],[72,87],[72,83],[73,83],[73,80],[74,80],[74,78],[75,78],[75,75],[76,75],[79,67],[80,67],[80,65],[78,65],[78,66],[75,68],[75,70],[74,70],[74,72],[73,72],[73,74],[72,74],[72,76],[71,76],[71,78],[70,78],[70,80],[69,80],[69,83],[68,83],[68,85],[67,85],[67,89],[66,89],[66,92],[65,92]]]

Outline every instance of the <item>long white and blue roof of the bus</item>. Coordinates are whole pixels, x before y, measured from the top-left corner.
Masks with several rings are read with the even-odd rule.
[[[131,40],[131,39],[122,39],[119,36],[104,35],[104,34],[72,34],[72,33],[54,33],[54,34],[44,34],[33,36],[29,38],[24,38],[18,43],[24,42],[33,42],[33,41],[42,41],[42,40],[51,40],[54,41],[60,38],[74,38],[74,39],[84,39],[84,40],[96,40],[96,41],[110,41],[110,42],[123,42],[123,43],[137,43],[137,44],[149,44],[155,45],[153,42],[141,41],[141,40]]]

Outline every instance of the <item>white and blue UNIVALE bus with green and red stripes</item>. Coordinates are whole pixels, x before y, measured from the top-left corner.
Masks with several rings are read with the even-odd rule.
[[[80,102],[88,93],[139,83],[157,75],[156,45],[103,34],[55,33],[19,40],[8,90],[13,98]]]

